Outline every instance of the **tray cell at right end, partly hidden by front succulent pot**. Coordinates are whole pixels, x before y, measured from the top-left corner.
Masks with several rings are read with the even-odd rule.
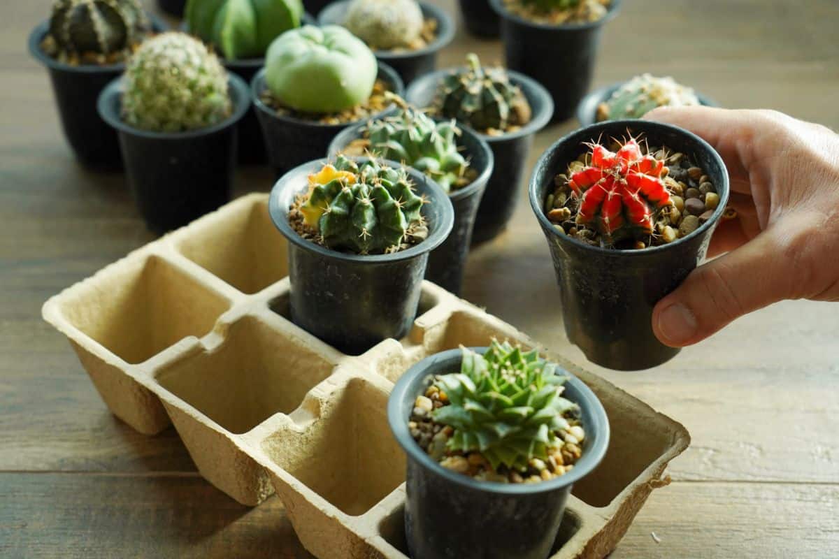
[[[571,493],[588,505],[604,507],[673,448],[674,432],[660,426],[654,411],[639,412],[636,402],[628,401],[622,392],[596,392],[609,417],[609,448],[600,465],[578,481]]]

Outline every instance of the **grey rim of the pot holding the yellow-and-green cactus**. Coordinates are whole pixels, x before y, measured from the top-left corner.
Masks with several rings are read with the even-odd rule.
[[[368,161],[370,158],[352,157],[350,159],[357,163],[363,163],[365,161]],[[400,163],[388,159],[378,159],[378,161],[380,163],[385,163],[392,168],[401,167]],[[274,187],[271,189],[271,194],[268,198],[268,215],[270,216],[271,221],[274,222],[274,226],[277,229],[279,229],[279,232],[282,233],[289,241],[293,242],[295,245],[299,246],[305,251],[316,252],[320,256],[334,258],[336,260],[367,264],[383,264],[409,260],[416,256],[420,256],[426,252],[433,251],[435,248],[440,246],[443,243],[443,241],[446,241],[446,238],[448,238],[449,234],[451,233],[451,229],[454,226],[455,221],[455,211],[451,205],[451,200],[449,200],[449,197],[446,196],[446,193],[443,192],[443,189],[440,187],[439,184],[436,184],[433,180],[426,177],[424,173],[420,173],[414,168],[406,167],[405,169],[408,171],[411,179],[414,180],[414,183],[419,183],[419,181],[421,180],[423,181],[425,186],[431,190],[431,203],[440,203],[440,224],[436,225],[434,230],[430,231],[430,235],[427,239],[425,239],[425,241],[422,241],[417,245],[411,246],[410,248],[405,249],[404,251],[393,252],[392,254],[360,255],[341,251],[334,251],[331,248],[327,248],[326,246],[320,246],[317,243],[305,240],[303,237],[297,234],[297,231],[295,231],[291,227],[291,225],[289,225],[288,209],[284,208],[279,203],[279,197],[280,194],[283,193],[286,189],[295,189],[296,192],[301,192],[308,186],[307,184],[298,185],[292,183],[289,179],[289,176],[297,176],[302,175],[304,173],[314,173],[316,170],[321,168],[326,163],[330,163],[329,158],[315,159],[314,161],[298,165],[297,167],[289,170],[288,173],[284,173],[284,175],[280,177],[274,184]]]

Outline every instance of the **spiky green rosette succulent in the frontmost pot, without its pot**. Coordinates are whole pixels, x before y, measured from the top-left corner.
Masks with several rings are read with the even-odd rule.
[[[496,470],[524,470],[532,458],[547,460],[556,433],[571,428],[563,414],[577,406],[560,396],[565,380],[535,350],[497,341],[484,355],[463,348],[461,371],[434,381],[450,404],[431,417],[454,428],[452,451],[480,452]]]

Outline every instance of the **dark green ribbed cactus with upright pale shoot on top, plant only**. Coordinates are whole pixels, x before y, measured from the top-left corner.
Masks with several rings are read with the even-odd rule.
[[[466,71],[456,71],[441,82],[436,110],[475,130],[506,130],[530,122],[532,111],[503,68],[484,68],[476,54],[466,56]]]

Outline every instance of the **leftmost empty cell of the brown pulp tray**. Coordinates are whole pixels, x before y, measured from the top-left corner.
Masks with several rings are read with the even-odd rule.
[[[208,334],[227,298],[159,256],[124,261],[61,305],[76,328],[128,363],[142,363],[187,336]]]

